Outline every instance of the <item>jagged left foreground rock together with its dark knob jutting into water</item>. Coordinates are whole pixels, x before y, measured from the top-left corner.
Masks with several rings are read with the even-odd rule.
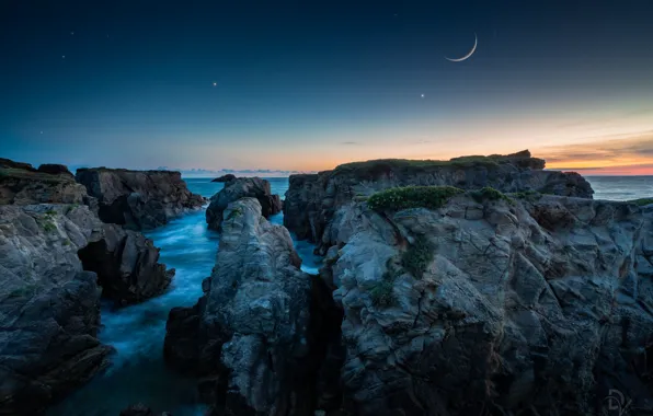
[[[158,256],[83,205],[0,206],[0,415],[38,414],[107,366],[98,284],[119,304],[157,294],[173,274]]]

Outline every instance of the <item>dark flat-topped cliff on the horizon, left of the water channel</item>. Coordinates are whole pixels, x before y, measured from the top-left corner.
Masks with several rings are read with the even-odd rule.
[[[98,167],[79,169],[76,177],[98,198],[102,221],[130,230],[153,229],[204,205],[180,172]]]

